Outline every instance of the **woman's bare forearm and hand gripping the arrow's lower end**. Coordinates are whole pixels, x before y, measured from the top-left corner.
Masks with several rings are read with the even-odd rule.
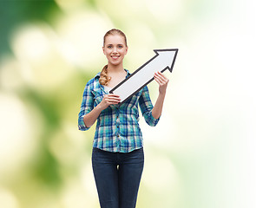
[[[95,120],[99,117],[102,110],[106,109],[109,105],[118,104],[121,101],[120,97],[116,94],[105,94],[102,101],[97,105],[89,114],[83,116],[83,122],[86,127],[91,127]]]

